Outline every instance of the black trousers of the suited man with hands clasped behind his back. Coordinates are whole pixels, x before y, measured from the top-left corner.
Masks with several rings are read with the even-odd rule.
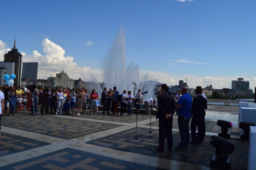
[[[164,149],[164,138],[167,138],[168,149],[172,149],[172,120],[159,118],[159,149]]]

